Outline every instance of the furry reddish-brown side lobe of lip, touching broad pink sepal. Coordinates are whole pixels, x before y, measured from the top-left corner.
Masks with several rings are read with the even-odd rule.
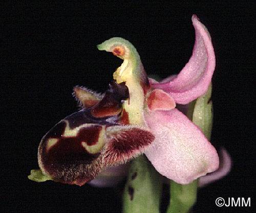
[[[114,126],[107,128],[107,143],[102,152],[106,167],[122,164],[142,154],[155,136],[135,126]]]

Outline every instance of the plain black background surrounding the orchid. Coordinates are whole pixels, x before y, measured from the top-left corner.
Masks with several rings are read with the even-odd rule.
[[[27,179],[37,169],[41,137],[77,110],[75,85],[103,92],[121,60],[98,51],[111,37],[131,41],[147,74],[177,74],[194,45],[191,16],[208,28],[217,66],[212,143],[233,159],[231,173],[202,188],[193,212],[252,212],[217,207],[218,197],[251,198],[255,206],[255,5],[250,2],[95,1],[28,4],[1,15],[4,32],[1,208],[6,212],[121,212],[121,187],[94,188]]]

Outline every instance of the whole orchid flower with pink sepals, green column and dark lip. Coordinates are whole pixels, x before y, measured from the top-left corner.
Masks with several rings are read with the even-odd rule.
[[[148,79],[134,46],[111,38],[97,46],[123,59],[104,94],[74,88],[81,110],[57,123],[38,148],[40,170],[30,179],[83,185],[101,171],[141,154],[163,176],[180,184],[214,172],[216,149],[176,108],[202,96],[215,69],[211,38],[196,15],[193,55],[175,77]]]

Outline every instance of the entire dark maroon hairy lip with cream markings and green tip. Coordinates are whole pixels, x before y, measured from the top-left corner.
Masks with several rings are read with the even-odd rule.
[[[42,138],[41,172],[32,170],[30,179],[83,185],[101,170],[143,153],[154,140],[145,127],[123,125],[127,121],[120,106],[129,98],[124,83],[113,81],[103,98],[83,87],[75,87],[74,94],[80,103],[91,103],[90,108],[67,116]]]

